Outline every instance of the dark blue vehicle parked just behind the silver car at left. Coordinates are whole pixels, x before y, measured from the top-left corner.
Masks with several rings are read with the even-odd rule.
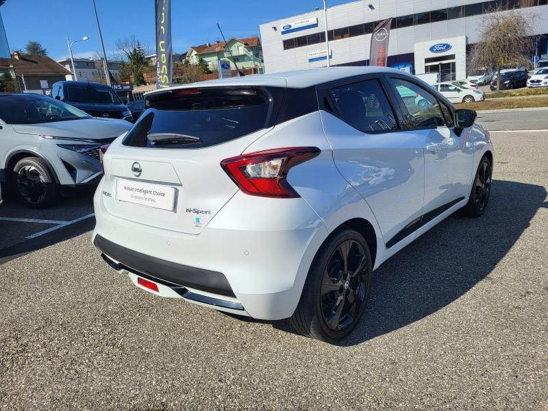
[[[51,97],[74,105],[90,116],[123,119],[133,123],[132,112],[106,84],[92,82],[56,82]]]

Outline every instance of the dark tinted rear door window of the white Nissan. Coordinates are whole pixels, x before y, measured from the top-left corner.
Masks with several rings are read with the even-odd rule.
[[[399,128],[388,98],[376,79],[333,88],[331,96],[343,121],[361,132],[387,132]]]

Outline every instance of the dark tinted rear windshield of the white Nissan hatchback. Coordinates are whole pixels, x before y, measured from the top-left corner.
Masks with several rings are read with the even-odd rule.
[[[264,129],[271,114],[264,88],[184,88],[147,99],[123,140],[132,147],[199,148]]]

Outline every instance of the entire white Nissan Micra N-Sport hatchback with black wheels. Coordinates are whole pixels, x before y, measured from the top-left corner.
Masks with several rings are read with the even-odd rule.
[[[93,243],[162,297],[290,317],[334,342],[364,313],[374,269],[487,207],[493,145],[475,112],[401,71],[222,79],[146,101],[102,149]]]

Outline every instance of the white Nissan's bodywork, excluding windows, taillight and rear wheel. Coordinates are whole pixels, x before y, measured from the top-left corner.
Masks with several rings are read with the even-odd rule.
[[[336,89],[343,90],[337,97],[342,104],[346,87],[393,79],[413,83],[422,97],[436,96],[412,75],[378,67],[222,79],[149,93],[147,100],[167,101],[166,92],[184,96],[216,87],[271,88],[283,90],[288,105],[282,103],[274,125],[192,149],[151,148],[150,141],[134,146],[140,124],[153,121],[149,108],[104,155],[105,175],[94,200],[95,246],[114,269],[155,295],[268,320],[295,312],[314,256],[341,226],[368,227],[376,269],[462,208],[480,160],[493,157],[488,134],[478,125],[457,131],[447,125],[406,129],[400,123],[403,128],[394,131],[363,132],[324,106],[327,100],[316,101],[316,93]],[[403,104],[397,103],[395,92],[390,88],[390,101]],[[438,101],[448,113],[453,110],[447,100]],[[389,126],[386,122],[392,120],[373,121],[378,101],[362,97],[361,103],[373,110],[372,129],[373,123]],[[414,95],[406,104],[421,110]],[[396,123],[394,119],[393,127]],[[227,160],[233,156],[247,158],[253,156],[248,153],[283,147],[317,149],[284,177],[297,192],[294,198],[249,195],[221,166],[240,161]],[[155,208],[142,205],[150,201],[143,194],[147,190],[166,192],[153,199]],[[134,192],[139,193],[135,198]],[[409,232],[417,219],[423,224]]]

